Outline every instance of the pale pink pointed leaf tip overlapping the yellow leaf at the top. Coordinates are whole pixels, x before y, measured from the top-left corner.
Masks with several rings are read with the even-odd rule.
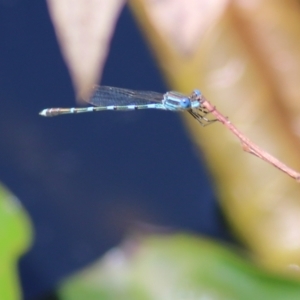
[[[228,1],[145,0],[144,5],[157,33],[177,51],[188,54],[195,49],[207,28],[219,18]]]

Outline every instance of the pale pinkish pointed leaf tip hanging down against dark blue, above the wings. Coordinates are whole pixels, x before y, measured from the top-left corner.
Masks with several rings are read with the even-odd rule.
[[[79,98],[99,81],[125,0],[48,0],[62,53]]]

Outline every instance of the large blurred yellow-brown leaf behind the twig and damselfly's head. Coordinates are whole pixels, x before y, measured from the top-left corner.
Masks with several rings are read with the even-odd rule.
[[[246,136],[300,170],[299,2],[132,0],[131,7],[172,89],[200,87]],[[191,23],[201,26],[192,46],[182,29]],[[300,185],[244,153],[221,124],[201,128],[190,116],[186,123],[234,232],[265,266],[299,276]]]

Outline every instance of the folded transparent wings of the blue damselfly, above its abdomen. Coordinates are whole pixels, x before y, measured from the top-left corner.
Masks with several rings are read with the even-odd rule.
[[[164,95],[150,91],[135,91],[111,86],[95,86],[85,101],[94,106],[123,106],[161,103]]]

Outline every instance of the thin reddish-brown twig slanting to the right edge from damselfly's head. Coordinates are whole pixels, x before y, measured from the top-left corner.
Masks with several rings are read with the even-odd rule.
[[[253,154],[260,159],[268,162],[277,169],[286,173],[290,177],[294,178],[297,182],[300,182],[300,173],[293,170],[292,168],[285,165],[283,162],[269,154],[268,152],[262,150],[260,147],[251,142],[242,132],[240,132],[227,117],[223,116],[215,106],[213,106],[204,96],[201,96],[201,106],[207,110],[209,113],[216,117],[216,120],[221,122],[226,128],[228,128],[241,142],[244,151]]]

